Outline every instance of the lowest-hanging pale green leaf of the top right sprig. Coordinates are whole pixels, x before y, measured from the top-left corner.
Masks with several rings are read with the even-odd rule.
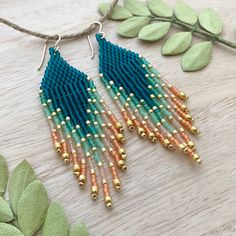
[[[212,43],[210,41],[192,46],[182,58],[183,71],[196,71],[207,66],[211,60]]]

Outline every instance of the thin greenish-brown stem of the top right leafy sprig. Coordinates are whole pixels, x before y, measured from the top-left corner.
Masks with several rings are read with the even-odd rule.
[[[230,42],[228,40],[225,40],[222,37],[219,37],[217,35],[211,34],[203,29],[200,29],[199,27],[196,27],[194,25],[190,25],[187,23],[184,23],[182,21],[179,21],[178,19],[174,18],[174,17],[163,17],[163,16],[151,16],[150,17],[151,21],[161,21],[161,22],[170,22],[172,24],[175,25],[179,25],[187,30],[190,30],[192,32],[194,32],[195,34],[201,35],[206,37],[207,39],[211,40],[211,41],[216,41],[219,42],[221,44],[224,44],[230,48],[234,48],[236,49],[236,43]]]

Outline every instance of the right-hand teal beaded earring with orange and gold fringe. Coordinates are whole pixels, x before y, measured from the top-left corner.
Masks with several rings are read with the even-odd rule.
[[[187,95],[172,86],[138,53],[121,48],[96,34],[99,44],[99,73],[130,131],[157,140],[169,150],[180,150],[201,163],[195,145],[186,134],[199,130],[183,101]]]

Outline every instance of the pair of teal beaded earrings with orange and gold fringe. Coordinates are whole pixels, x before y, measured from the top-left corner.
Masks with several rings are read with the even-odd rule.
[[[95,24],[100,25],[96,34],[99,77],[128,129],[201,163],[185,131],[199,132],[183,103],[186,94],[166,81],[145,58],[107,41],[101,23]],[[120,190],[118,169],[126,170],[123,126],[100,97],[92,79],[60,56],[58,42],[49,49],[50,59],[39,91],[53,143],[62,160],[72,164],[79,186],[84,187],[90,173],[92,198],[97,198],[102,186],[104,201],[111,207],[106,172],[110,169],[112,183]]]

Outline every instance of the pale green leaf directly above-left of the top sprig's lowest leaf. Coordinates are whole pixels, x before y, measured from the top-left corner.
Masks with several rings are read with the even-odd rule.
[[[167,39],[162,47],[163,55],[177,55],[186,51],[192,43],[191,32],[179,32]]]

